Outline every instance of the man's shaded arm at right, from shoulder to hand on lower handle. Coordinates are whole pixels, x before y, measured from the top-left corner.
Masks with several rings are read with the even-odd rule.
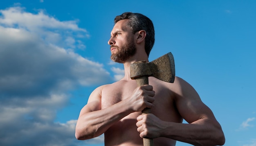
[[[148,118],[151,119],[151,123],[157,125],[148,127],[147,136],[152,138],[168,137],[195,146],[223,145],[225,137],[221,126],[209,107],[200,100],[195,89],[178,77],[175,78],[173,87],[177,110],[189,124],[162,121],[154,115],[147,115],[148,117],[140,115],[139,121]],[[144,119],[144,121],[146,120]],[[137,126],[140,125],[141,123],[137,123]],[[150,129],[152,133],[150,133]],[[144,137],[144,134],[141,133],[141,137]]]

